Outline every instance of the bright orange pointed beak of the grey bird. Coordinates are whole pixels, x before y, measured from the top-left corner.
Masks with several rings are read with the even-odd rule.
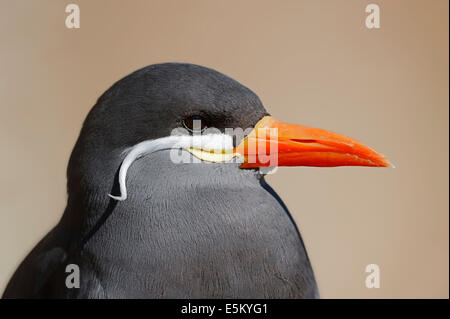
[[[381,154],[351,138],[322,129],[263,117],[236,147],[240,168],[268,166],[375,166],[391,164]]]

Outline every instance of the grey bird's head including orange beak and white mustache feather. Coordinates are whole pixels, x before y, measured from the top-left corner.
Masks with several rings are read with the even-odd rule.
[[[102,156],[96,153],[99,148],[120,161],[86,167]],[[171,153],[174,162],[186,164],[178,156],[181,151],[200,163],[238,162],[236,170],[390,165],[384,156],[349,137],[276,120],[256,94],[217,71],[165,63],[132,73],[100,97],[72,153],[69,175],[82,182],[87,169],[95,176],[108,165],[120,167],[120,194],[110,197],[124,200],[132,163],[169,149],[177,150]]]

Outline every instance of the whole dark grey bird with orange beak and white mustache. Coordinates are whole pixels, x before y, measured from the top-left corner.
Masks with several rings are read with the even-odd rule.
[[[389,163],[353,139],[275,120],[212,69],[145,67],[89,112],[64,214],[3,297],[316,298],[298,228],[260,168],[342,165]]]

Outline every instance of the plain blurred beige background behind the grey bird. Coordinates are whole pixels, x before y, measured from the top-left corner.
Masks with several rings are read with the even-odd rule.
[[[66,4],[81,29],[65,28]],[[375,1],[374,1],[375,2]],[[81,123],[113,82],[192,62],[280,120],[334,130],[397,166],[281,168],[322,297],[448,298],[448,1],[0,1],[0,289],[65,207]],[[365,266],[381,288],[365,288]]]

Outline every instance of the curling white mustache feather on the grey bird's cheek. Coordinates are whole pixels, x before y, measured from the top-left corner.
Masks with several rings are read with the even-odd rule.
[[[120,196],[108,194],[109,197],[117,201],[127,199],[126,177],[128,169],[133,162],[147,154],[156,151],[168,149],[188,149],[195,147],[206,150],[225,150],[233,149],[233,139],[226,134],[207,134],[207,135],[179,135],[167,136],[155,140],[147,140],[138,143],[128,149],[128,154],[122,161],[119,171]]]

